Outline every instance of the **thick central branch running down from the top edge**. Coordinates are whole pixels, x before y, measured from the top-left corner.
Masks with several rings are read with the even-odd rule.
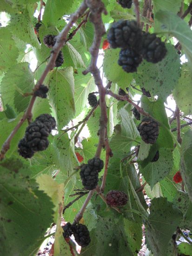
[[[103,147],[105,147],[106,144],[106,126],[107,126],[107,112],[106,112],[106,89],[103,86],[103,81],[100,76],[99,68],[97,67],[97,59],[99,55],[99,47],[101,43],[101,38],[103,34],[105,34],[105,26],[102,21],[102,13],[107,14],[105,6],[101,0],[87,0],[86,1],[87,6],[90,8],[90,21],[93,23],[94,26],[94,38],[93,38],[93,44],[90,47],[89,51],[92,56],[91,63],[89,67],[83,72],[83,74],[88,74],[91,72],[93,74],[93,78],[95,81],[95,84],[98,87],[99,91],[99,105],[101,109],[101,115],[100,115],[100,128],[99,128],[99,143],[97,146],[97,151],[95,156],[100,157],[101,150]],[[86,209],[86,206],[88,202],[90,201],[92,195],[94,193],[94,190],[91,190],[86,198],[86,201],[84,202],[82,208],[80,209],[79,213],[75,216],[74,222],[79,222],[79,220],[83,216],[83,212]]]

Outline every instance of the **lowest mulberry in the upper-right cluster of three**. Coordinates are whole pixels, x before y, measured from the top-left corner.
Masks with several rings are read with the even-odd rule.
[[[123,70],[127,73],[133,73],[137,71],[137,67],[142,61],[142,57],[132,48],[121,49],[119,52],[119,66],[122,66]]]

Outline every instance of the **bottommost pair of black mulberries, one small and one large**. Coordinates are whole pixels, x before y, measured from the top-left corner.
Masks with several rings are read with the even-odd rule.
[[[89,230],[87,229],[86,225],[83,224],[71,224],[67,222],[66,225],[63,227],[63,236],[68,238],[69,236],[74,236],[75,241],[81,246],[86,247],[90,242]]]

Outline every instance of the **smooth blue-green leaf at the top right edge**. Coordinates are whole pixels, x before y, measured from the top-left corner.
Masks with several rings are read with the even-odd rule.
[[[187,23],[178,15],[162,10],[156,13],[156,19],[162,24],[158,32],[172,34],[176,37],[182,45],[188,61],[192,63],[192,31]]]

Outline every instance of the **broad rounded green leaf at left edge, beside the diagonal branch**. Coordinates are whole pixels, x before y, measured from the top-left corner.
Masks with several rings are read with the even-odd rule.
[[[22,94],[31,92],[34,85],[34,75],[28,65],[25,62],[11,67],[0,85],[4,103],[16,108],[18,112],[26,110],[30,97],[23,97]]]

